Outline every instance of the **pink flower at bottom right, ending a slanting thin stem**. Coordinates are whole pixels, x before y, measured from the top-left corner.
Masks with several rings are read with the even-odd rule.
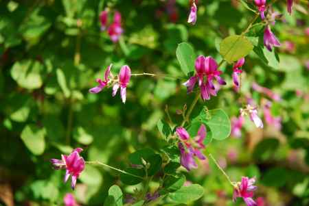
[[[257,205],[255,201],[253,201],[253,191],[256,190],[256,186],[253,184],[255,183],[255,178],[249,179],[248,177],[242,177],[241,183],[238,182],[235,185],[234,192],[233,192],[233,201],[236,201],[236,198],[242,197],[244,203],[247,206],[255,206]]]

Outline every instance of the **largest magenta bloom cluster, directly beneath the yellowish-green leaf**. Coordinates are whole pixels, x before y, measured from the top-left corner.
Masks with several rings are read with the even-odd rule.
[[[194,89],[196,81],[198,81],[198,86],[201,88],[201,97],[204,101],[210,99],[210,95],[216,96],[218,92],[213,83],[214,79],[221,85],[226,84],[224,79],[220,77],[222,71],[218,70],[218,64],[210,56],[198,56],[195,61],[195,70],[196,75],[190,77],[183,85],[187,87],[187,92],[190,93]]]

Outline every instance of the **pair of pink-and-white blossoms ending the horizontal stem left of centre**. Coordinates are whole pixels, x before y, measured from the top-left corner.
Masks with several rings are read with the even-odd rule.
[[[126,103],[126,87],[128,86],[128,83],[131,77],[130,67],[127,65],[122,66],[122,68],[120,69],[118,78],[115,79],[115,77],[111,73],[111,66],[112,64],[106,68],[106,71],[104,74],[104,80],[97,79],[97,82],[99,83],[99,85],[95,86],[94,88],[91,88],[89,92],[91,93],[101,92],[101,90],[104,87],[111,84],[113,86],[112,95],[115,96],[117,94],[118,89],[120,88],[120,96],[122,98],[122,102]]]

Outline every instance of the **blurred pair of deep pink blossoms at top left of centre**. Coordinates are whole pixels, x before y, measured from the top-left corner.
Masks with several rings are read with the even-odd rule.
[[[113,42],[117,42],[119,37],[124,32],[122,29],[122,15],[119,12],[115,12],[113,22],[108,27],[108,10],[104,10],[100,14],[101,31],[105,31],[107,28],[107,34]]]

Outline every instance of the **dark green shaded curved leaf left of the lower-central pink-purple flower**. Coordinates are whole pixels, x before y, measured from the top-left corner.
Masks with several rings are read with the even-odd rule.
[[[142,159],[144,159],[150,167],[148,168],[148,175],[155,175],[160,169],[162,164],[162,158],[156,154],[152,149],[141,149],[132,153],[128,157],[132,164],[143,165]]]

